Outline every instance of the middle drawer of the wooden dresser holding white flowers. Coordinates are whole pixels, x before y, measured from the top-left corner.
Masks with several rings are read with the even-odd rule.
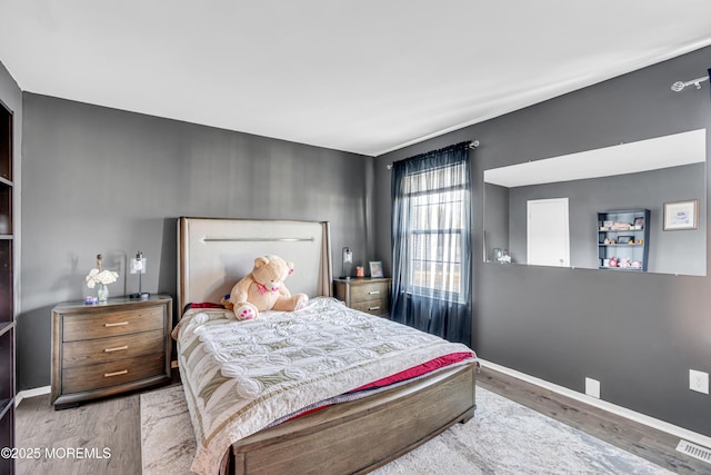
[[[62,347],[62,367],[96,365],[116,359],[150,355],[151,353],[161,353],[163,352],[164,343],[162,330],[69,342]]]

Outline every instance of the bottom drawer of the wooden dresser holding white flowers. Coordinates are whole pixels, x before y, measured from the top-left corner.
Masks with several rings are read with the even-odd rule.
[[[77,366],[63,369],[62,392],[81,393],[131,383],[164,373],[166,355],[119,359],[99,365]]]

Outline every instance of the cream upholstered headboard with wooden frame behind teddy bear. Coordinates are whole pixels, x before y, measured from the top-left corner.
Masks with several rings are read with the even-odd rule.
[[[287,279],[292,294],[331,296],[331,244],[327,221],[178,219],[178,308],[219,303],[254,266],[277,255],[294,264]]]

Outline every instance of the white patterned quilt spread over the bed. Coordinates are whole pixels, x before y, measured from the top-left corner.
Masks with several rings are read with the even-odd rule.
[[[279,418],[430,359],[472,353],[332,298],[248,321],[192,309],[177,334],[198,442],[191,469],[211,475],[233,442]]]

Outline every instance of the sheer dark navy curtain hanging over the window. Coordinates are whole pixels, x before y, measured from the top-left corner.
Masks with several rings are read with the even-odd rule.
[[[392,166],[391,318],[471,346],[469,144]]]

